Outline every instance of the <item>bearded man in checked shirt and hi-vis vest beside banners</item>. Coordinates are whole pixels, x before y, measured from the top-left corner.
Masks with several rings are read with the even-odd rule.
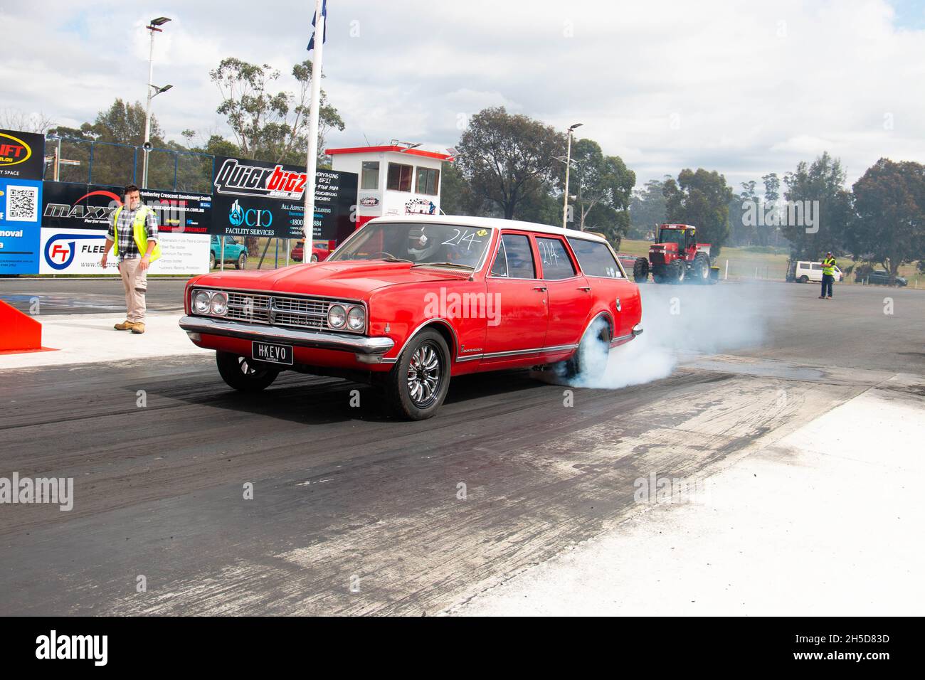
[[[118,272],[125,287],[127,315],[125,321],[114,328],[143,333],[148,266],[161,256],[161,246],[157,242],[157,216],[154,210],[142,204],[142,194],[134,184],[126,186],[123,201],[113,212],[100,264],[106,266],[109,249],[115,245],[113,254],[118,255]]]

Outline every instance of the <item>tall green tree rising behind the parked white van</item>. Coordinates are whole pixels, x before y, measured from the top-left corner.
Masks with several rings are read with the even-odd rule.
[[[843,249],[845,228],[852,217],[851,194],[844,189],[845,170],[837,158],[823,153],[812,165],[801,162],[795,172],[783,176],[787,201],[818,202],[818,223],[812,227],[795,224],[787,219],[781,228],[790,241],[795,259],[819,259],[826,251],[839,253]],[[804,219],[804,222],[807,220]]]

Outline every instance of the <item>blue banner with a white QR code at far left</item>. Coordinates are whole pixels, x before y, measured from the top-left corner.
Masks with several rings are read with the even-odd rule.
[[[42,181],[0,177],[0,274],[37,274]]]

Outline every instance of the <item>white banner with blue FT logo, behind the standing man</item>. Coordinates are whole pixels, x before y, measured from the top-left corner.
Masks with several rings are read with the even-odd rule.
[[[112,254],[100,266],[105,247],[102,229],[42,229],[40,274],[114,274],[118,257]],[[208,234],[163,233],[161,256],[151,263],[150,274],[205,274],[209,266]]]

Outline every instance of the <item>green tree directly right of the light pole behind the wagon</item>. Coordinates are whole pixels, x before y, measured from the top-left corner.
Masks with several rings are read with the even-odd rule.
[[[626,167],[620,156],[605,156],[594,140],[574,142],[572,158],[569,193],[575,196],[573,221],[578,223],[578,229],[619,227],[625,232],[629,227],[627,211],[635,186],[635,172]],[[623,213],[624,216],[617,217]],[[594,220],[597,223],[591,224],[589,216],[597,217]]]

